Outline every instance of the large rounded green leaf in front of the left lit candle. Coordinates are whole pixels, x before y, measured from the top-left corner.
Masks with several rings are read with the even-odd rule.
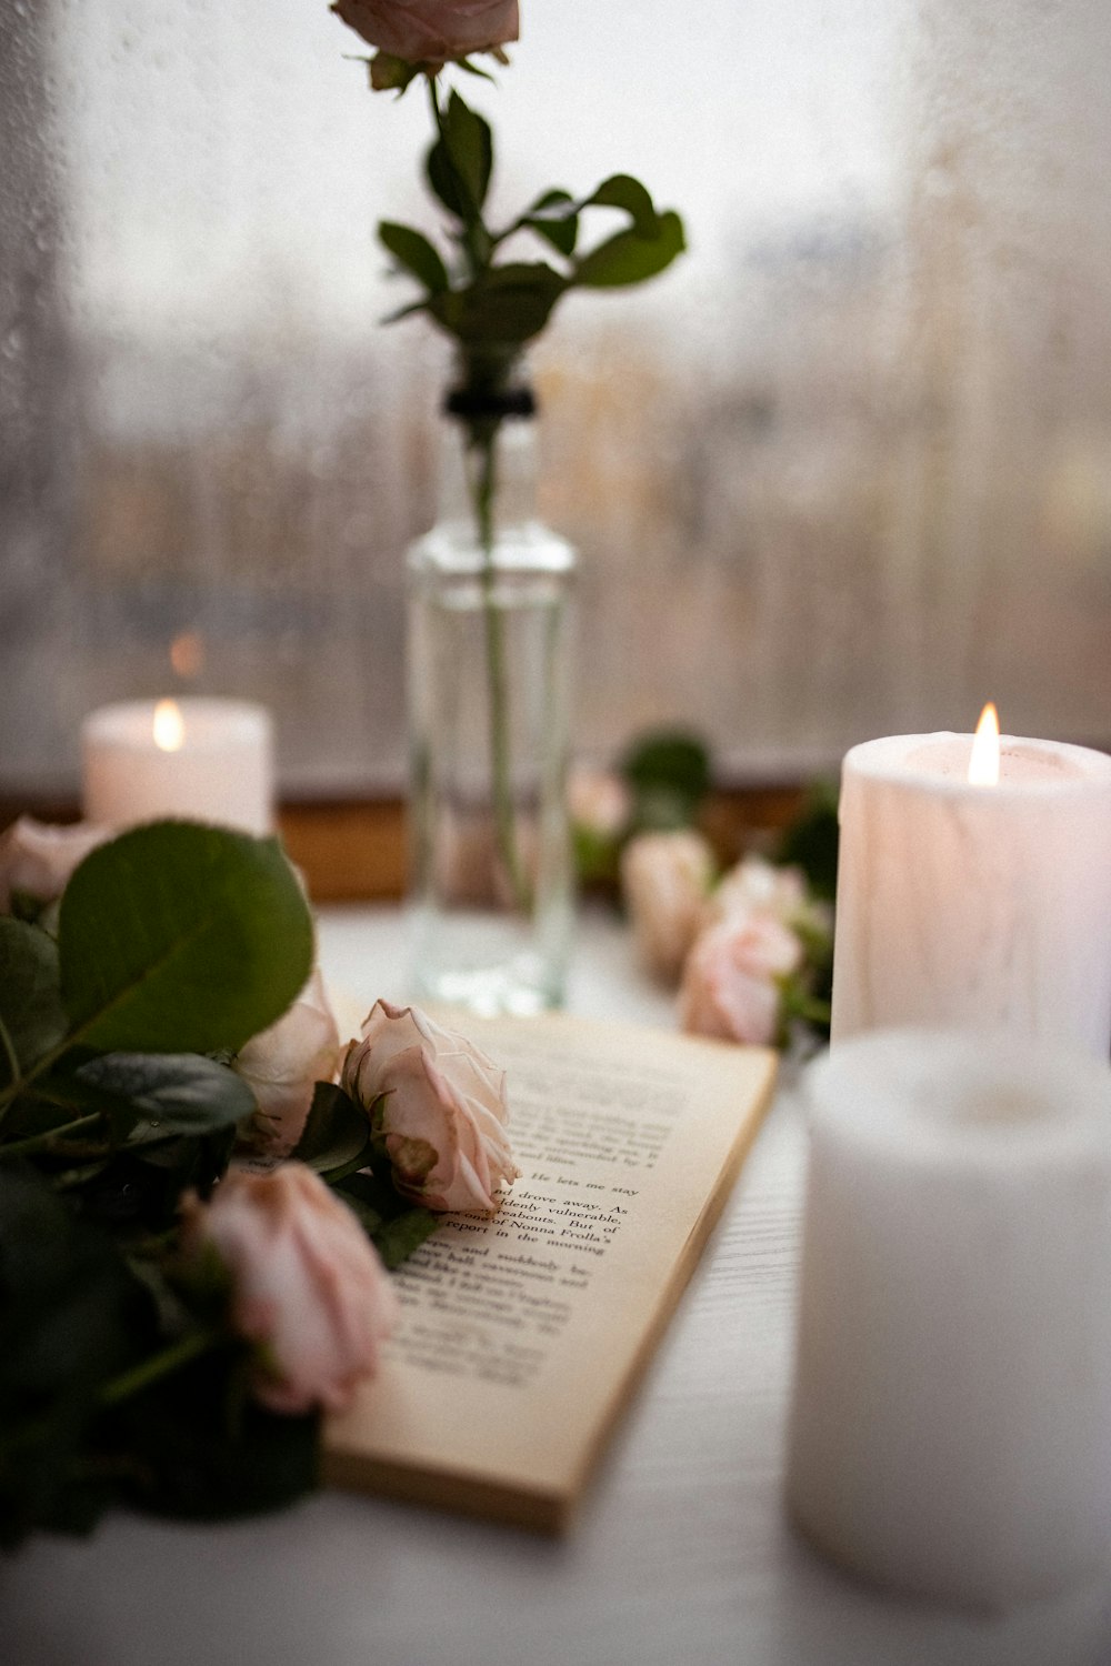
[[[278,840],[157,821],[77,868],[58,953],[75,1041],[105,1053],[238,1051],[308,980],[313,923]]]

